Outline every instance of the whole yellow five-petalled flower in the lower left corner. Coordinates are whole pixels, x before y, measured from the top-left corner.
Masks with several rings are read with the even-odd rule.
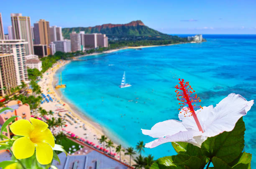
[[[53,157],[54,136],[44,121],[31,117],[28,120],[20,119],[10,125],[15,135],[24,136],[13,143],[13,155],[16,159],[26,159],[34,154],[40,164],[49,164]]]

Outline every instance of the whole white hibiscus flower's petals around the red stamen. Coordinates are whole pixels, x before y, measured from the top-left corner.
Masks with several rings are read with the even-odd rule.
[[[184,116],[184,110],[188,109],[184,106],[179,113],[179,120],[181,121],[166,120],[155,124],[151,130],[141,129],[143,134],[158,138],[147,143],[145,147],[154,148],[160,144],[175,141],[187,142],[201,147],[202,142],[207,137],[216,136],[224,131],[232,131],[236,122],[246,115],[252,105],[253,100],[246,101],[241,95],[231,93],[214,108],[210,105],[194,111],[203,131],[199,130],[200,127],[195,122],[194,114],[193,116]]]

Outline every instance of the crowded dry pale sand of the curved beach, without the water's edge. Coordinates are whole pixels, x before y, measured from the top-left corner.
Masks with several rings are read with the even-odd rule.
[[[117,51],[117,50],[113,50]],[[112,52],[113,52],[112,51]],[[99,53],[92,53],[90,55],[97,55]],[[84,55],[89,56],[89,55]],[[79,57],[84,57],[79,56]],[[70,61],[63,61],[60,60],[53,65],[52,68],[49,68],[44,74],[41,80],[38,82],[38,85],[41,86],[41,91],[44,93],[45,96],[49,94],[53,101],[46,101],[41,104],[41,107],[46,111],[54,111],[54,117],[56,118],[63,118],[67,124],[67,126],[62,127],[64,133],[70,131],[70,133],[74,133],[81,139],[88,140],[93,142],[95,146],[99,145],[103,147],[103,144],[100,144],[99,139],[102,135],[106,135],[102,129],[102,127],[87,118],[82,112],[80,112],[75,106],[69,103],[62,97],[62,94],[58,89],[55,89],[54,86],[56,85],[56,80],[54,80],[54,75],[56,71],[65,66],[66,64],[70,63]],[[48,115],[47,118],[50,118]],[[62,130],[61,129],[61,130]],[[55,132],[59,132],[59,129],[56,129]],[[114,146],[118,146],[119,143],[114,142]],[[111,148],[111,152],[115,153],[115,147]],[[105,144],[106,148],[106,144]],[[123,147],[125,149],[126,147]],[[109,150],[109,148],[108,148]],[[72,152],[68,152],[69,154],[73,154]],[[74,154],[77,154],[75,152]],[[80,152],[79,152],[80,154]],[[116,159],[119,159],[119,154],[115,156]],[[129,156],[125,156],[124,152],[121,153],[121,161],[124,163],[129,163]],[[133,162],[132,162],[133,163]]]

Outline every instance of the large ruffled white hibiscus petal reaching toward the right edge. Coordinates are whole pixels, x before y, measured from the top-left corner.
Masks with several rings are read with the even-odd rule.
[[[216,136],[223,131],[232,131],[236,122],[251,109],[253,100],[246,101],[239,94],[231,93],[212,111],[212,118],[205,124],[204,136]]]

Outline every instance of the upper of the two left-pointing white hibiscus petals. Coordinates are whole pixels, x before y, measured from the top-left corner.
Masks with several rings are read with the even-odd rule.
[[[166,120],[155,124],[151,130],[141,129],[142,133],[153,138],[164,137],[167,135],[173,135],[179,131],[187,131],[182,125],[181,121],[177,120]]]

